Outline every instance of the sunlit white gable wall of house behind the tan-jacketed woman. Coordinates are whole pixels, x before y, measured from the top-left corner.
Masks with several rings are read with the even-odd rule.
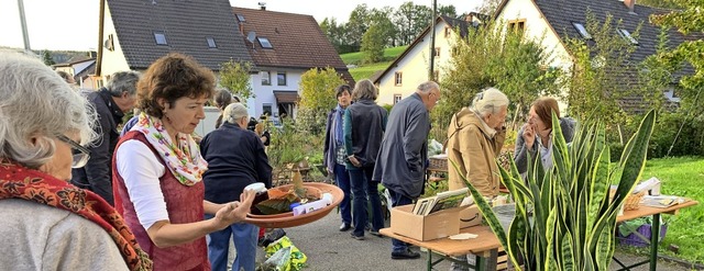
[[[454,32],[446,37],[444,29],[448,26],[443,21],[436,25],[436,47],[440,48],[440,57],[436,57],[435,70],[439,71],[439,80],[442,80],[444,69],[449,64],[452,54],[452,44],[454,43]],[[422,41],[414,47],[409,47],[408,54],[404,59],[398,61],[384,77],[380,78],[380,95],[376,99],[377,104],[394,104],[394,95],[400,94],[400,98],[407,98],[416,92],[416,88],[428,81],[428,68],[430,63],[430,34],[427,33]],[[402,86],[395,84],[396,72],[403,72]]]

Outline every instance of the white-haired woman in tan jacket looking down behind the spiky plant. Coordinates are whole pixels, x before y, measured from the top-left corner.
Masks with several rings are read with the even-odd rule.
[[[464,188],[464,177],[482,195],[498,195],[499,171],[495,159],[506,139],[507,108],[506,94],[490,88],[476,94],[470,108],[452,116],[448,159],[458,165],[459,171],[450,170],[450,190]]]

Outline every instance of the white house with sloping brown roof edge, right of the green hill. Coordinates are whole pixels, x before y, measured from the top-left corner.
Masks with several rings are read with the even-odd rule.
[[[477,14],[472,13],[465,20],[449,16],[436,19],[435,67],[433,77],[440,81],[444,67],[449,64],[458,36],[465,36],[468,27],[480,23]],[[429,77],[431,26],[428,26],[414,42],[394,60],[388,68],[373,76],[372,81],[380,88],[376,99],[378,104],[396,104],[402,99],[413,94],[416,88],[432,78]],[[459,31],[459,32],[458,32]]]

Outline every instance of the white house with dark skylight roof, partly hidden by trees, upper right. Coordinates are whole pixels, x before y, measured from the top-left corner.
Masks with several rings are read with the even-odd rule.
[[[550,66],[571,70],[573,58],[568,52],[564,37],[583,38],[587,44],[593,43],[592,35],[586,30],[586,12],[604,22],[607,15],[613,15],[614,22],[620,21],[617,33],[635,46],[629,63],[639,64],[648,56],[656,54],[660,27],[650,23],[651,14],[669,12],[668,10],[636,4],[636,0],[503,0],[498,5],[494,19],[504,21],[507,29],[521,31],[532,41],[541,41],[542,46],[552,50]],[[636,39],[630,35],[641,25],[640,36]],[[686,38],[675,30],[670,30],[670,46],[676,46]],[[695,35],[695,34],[693,34]],[[698,37],[701,38],[701,36]],[[682,74],[691,74],[691,67],[685,67]],[[624,78],[624,80],[629,80]],[[663,90],[663,98],[670,102],[679,102],[672,88]],[[622,108],[639,111],[640,98],[627,98],[620,101]],[[561,108],[565,104],[561,104]]]

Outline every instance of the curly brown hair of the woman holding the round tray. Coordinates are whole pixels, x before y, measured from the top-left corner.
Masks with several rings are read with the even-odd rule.
[[[216,77],[210,69],[190,56],[169,53],[156,59],[138,83],[138,108],[161,118],[164,109],[158,104],[160,99],[173,108],[176,100],[184,97],[211,99],[215,89]]]

